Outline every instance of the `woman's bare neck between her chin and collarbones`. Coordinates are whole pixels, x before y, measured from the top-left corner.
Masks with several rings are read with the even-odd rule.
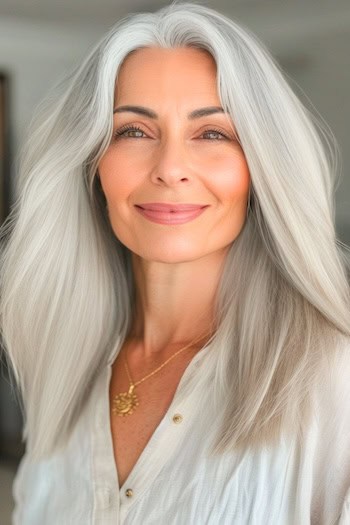
[[[215,301],[226,252],[164,264],[133,254],[136,300],[128,339],[145,357],[201,347],[215,332]]]

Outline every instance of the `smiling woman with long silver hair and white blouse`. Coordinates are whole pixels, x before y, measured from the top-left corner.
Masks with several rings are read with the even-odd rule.
[[[14,523],[350,523],[336,172],[263,44],[191,3],[126,17],[19,175]]]

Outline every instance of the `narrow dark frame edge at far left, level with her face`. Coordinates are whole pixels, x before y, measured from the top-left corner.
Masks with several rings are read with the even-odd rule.
[[[9,77],[0,71],[0,224],[10,211]]]

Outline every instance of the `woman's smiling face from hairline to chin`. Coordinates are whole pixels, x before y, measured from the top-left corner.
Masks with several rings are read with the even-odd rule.
[[[122,106],[142,106],[122,110]],[[147,260],[184,262],[227,250],[245,219],[250,176],[220,107],[216,65],[194,48],[138,49],[116,83],[114,132],[98,173],[116,237]],[[140,211],[147,203],[206,206],[199,212]]]

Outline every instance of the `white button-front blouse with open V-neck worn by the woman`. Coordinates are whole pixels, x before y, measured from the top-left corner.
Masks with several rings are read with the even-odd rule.
[[[181,394],[215,350],[213,343],[202,348],[187,366],[120,490],[109,420],[111,355],[67,448],[45,461],[22,458],[13,525],[349,525],[350,345],[319,385],[301,447],[281,438],[273,449],[214,459],[206,455],[213,414],[198,409],[209,406],[210,385]]]

